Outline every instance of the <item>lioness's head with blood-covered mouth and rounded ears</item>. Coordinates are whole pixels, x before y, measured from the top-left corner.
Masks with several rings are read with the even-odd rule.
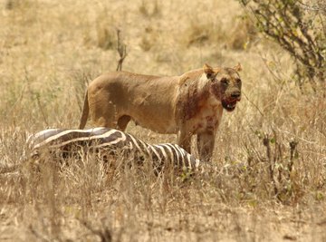
[[[241,79],[239,73],[241,65],[234,68],[213,68],[204,65],[206,78],[211,82],[211,92],[216,99],[221,100],[226,111],[234,111],[236,102],[241,100]]]

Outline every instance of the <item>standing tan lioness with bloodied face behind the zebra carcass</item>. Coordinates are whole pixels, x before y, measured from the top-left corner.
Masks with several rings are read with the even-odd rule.
[[[137,73],[105,73],[93,80],[85,95],[80,129],[89,112],[97,127],[124,131],[130,120],[159,133],[178,133],[177,143],[190,152],[197,134],[201,160],[211,160],[223,109],[234,111],[241,99],[241,79],[234,68],[189,71],[160,77]]]

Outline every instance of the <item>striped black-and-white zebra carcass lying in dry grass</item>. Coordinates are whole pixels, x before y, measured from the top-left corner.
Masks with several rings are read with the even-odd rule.
[[[177,168],[197,169],[199,160],[177,144],[150,145],[134,136],[109,128],[90,130],[49,129],[35,133],[27,140],[31,156],[37,157],[42,150],[62,152],[68,156],[95,152],[110,155],[133,156],[141,162],[153,160],[155,166],[173,164]]]

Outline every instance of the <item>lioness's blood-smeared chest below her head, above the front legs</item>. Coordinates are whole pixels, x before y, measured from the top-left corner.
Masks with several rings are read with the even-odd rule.
[[[223,107],[220,101],[213,96],[209,97],[198,109],[195,117],[190,121],[190,132],[216,131],[221,121]]]

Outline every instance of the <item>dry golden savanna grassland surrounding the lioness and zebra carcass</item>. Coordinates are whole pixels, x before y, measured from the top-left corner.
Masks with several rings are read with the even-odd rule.
[[[184,179],[145,166],[108,178],[89,157],[60,172],[49,162],[2,174],[1,241],[326,241],[323,90],[299,90],[291,58],[236,1],[2,0],[0,9],[1,167],[21,162],[29,133],[78,127],[87,82],[117,67],[117,28],[123,70],[244,69],[243,99],[216,137],[218,171]]]

